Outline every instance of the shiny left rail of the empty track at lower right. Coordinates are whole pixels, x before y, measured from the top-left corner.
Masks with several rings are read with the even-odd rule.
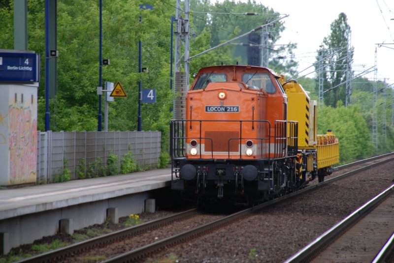
[[[309,262],[312,260],[317,251],[322,247],[326,246],[329,242],[336,239],[338,235],[345,232],[351,226],[353,226],[359,219],[364,215],[369,213],[373,208],[375,208],[382,200],[387,198],[393,193],[394,184],[384,190],[382,193],[359,207],[356,211],[345,217],[338,224],[330,228],[328,231],[317,237],[303,249],[298,251],[295,255],[287,259],[284,263],[298,263],[298,262]]]

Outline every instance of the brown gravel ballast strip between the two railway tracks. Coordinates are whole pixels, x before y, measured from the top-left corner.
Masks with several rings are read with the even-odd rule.
[[[146,262],[283,262],[393,184],[393,162],[269,207]]]

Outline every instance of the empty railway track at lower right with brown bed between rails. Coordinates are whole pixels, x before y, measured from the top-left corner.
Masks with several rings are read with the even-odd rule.
[[[393,192],[394,184],[285,263],[384,262],[394,246]]]

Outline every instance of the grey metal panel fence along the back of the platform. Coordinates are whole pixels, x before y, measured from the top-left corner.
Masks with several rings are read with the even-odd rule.
[[[85,177],[89,169],[99,174],[95,164],[105,167],[109,153],[121,158],[131,150],[141,167],[157,167],[161,152],[161,132],[38,132],[37,182],[52,182],[64,171],[70,179]]]

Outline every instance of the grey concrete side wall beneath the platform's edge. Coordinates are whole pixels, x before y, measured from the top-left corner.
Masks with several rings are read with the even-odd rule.
[[[154,195],[154,191],[141,192],[1,220],[0,254],[7,254],[13,247],[33,243],[44,236],[57,234],[62,219],[72,219],[72,229],[78,230],[104,223],[108,208],[118,208],[119,217],[139,214],[144,211],[144,201]]]

